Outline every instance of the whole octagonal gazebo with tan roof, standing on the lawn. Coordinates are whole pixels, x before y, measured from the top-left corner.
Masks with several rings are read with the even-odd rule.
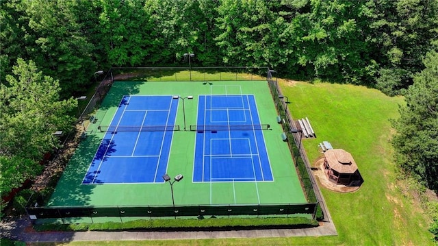
[[[327,149],[324,152],[324,173],[335,184],[360,186],[363,183],[355,159],[344,149]]]

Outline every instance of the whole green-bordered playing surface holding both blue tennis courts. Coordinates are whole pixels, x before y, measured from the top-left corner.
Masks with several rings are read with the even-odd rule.
[[[307,203],[266,81],[114,82],[93,116],[48,206]]]

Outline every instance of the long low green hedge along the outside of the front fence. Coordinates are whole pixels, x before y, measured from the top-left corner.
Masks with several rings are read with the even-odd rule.
[[[304,217],[263,218],[263,219],[153,219],[127,221],[125,223],[79,223],[79,224],[42,224],[34,225],[37,231],[125,231],[125,230],[236,230],[274,227],[315,227],[318,221]]]

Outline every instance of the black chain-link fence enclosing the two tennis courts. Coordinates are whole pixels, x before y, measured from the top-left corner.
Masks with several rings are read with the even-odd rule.
[[[227,204],[227,205],[188,205],[188,206],[114,206],[114,207],[45,207],[47,197],[40,197],[39,193],[29,199],[27,213],[31,219],[63,219],[79,217],[181,217],[181,216],[252,216],[263,215],[285,216],[291,214],[311,214],[315,218],[319,199],[313,191],[314,182],[311,180],[309,169],[300,155],[301,136],[294,134],[296,126],[287,109],[287,101],[282,96],[277,80],[273,79],[272,71],[268,68],[248,67],[207,67],[207,68],[115,68],[105,74],[96,93],[81,113],[79,119],[88,119],[101,105],[105,95],[110,90],[114,80],[117,81],[244,81],[265,80],[270,86],[272,97],[282,119],[283,129],[287,134],[289,148],[296,163],[300,181],[307,197],[307,204]],[[266,77],[266,70],[268,74]],[[295,135],[295,136],[294,136]],[[293,142],[293,140],[294,142]]]

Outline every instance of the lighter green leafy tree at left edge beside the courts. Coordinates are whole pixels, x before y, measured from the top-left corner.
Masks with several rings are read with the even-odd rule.
[[[17,60],[10,86],[0,88],[0,183],[3,192],[34,177],[38,162],[56,143],[52,133],[69,132],[77,107],[73,98],[60,99],[59,82],[37,71],[33,61]]]

